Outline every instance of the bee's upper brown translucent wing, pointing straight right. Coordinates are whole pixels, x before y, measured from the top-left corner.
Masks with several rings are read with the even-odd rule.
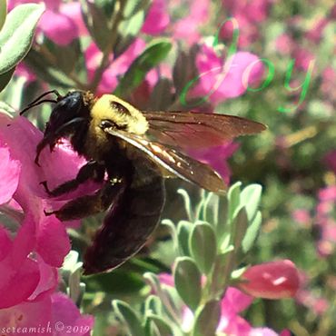
[[[260,133],[264,124],[227,114],[197,112],[143,112],[146,134],[159,143],[188,152],[228,143],[234,137]]]

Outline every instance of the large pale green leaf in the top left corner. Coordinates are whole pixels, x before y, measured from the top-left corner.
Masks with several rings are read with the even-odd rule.
[[[12,69],[28,53],[43,12],[44,5],[25,4],[16,6],[7,15],[0,32],[0,74]]]

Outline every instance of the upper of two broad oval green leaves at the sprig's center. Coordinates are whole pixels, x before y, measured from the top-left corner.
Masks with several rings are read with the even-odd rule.
[[[208,274],[217,253],[216,235],[212,226],[207,222],[196,223],[190,235],[189,247],[199,270]]]

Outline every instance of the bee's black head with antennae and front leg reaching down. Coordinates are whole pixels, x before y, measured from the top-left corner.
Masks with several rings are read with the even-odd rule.
[[[43,99],[46,94],[55,94],[56,99]],[[46,123],[44,137],[37,144],[35,163],[38,164],[38,157],[46,145],[53,150],[54,145],[62,137],[71,136],[90,120],[90,105],[94,102],[94,94],[83,91],[73,91],[62,96],[56,91],[43,94],[34,102],[29,104],[21,114],[28,109],[45,102],[54,103],[54,108],[50,114],[49,121]]]

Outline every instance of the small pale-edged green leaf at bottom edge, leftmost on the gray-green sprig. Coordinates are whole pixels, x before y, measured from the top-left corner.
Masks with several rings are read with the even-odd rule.
[[[124,301],[112,301],[115,313],[123,320],[132,336],[145,336],[143,325],[130,305]]]

